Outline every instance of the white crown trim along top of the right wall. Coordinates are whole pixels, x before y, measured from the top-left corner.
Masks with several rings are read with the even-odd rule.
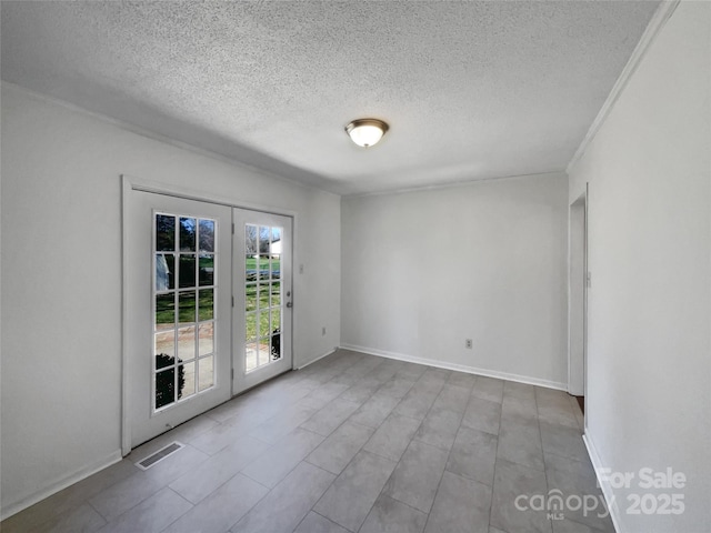
[[[657,39],[657,36],[660,33],[667,21],[671,18],[680,1],[681,0],[664,0],[660,3],[659,8],[657,8],[657,11],[652,16],[652,19],[644,30],[644,33],[642,33],[640,41],[637,43],[637,47],[632,51],[632,56],[630,56],[629,61],[624,66],[624,69],[622,69],[622,73],[614,82],[614,86],[612,86],[610,94],[608,94],[608,98],[602,104],[602,108],[600,108],[595,120],[592,121],[592,124],[588,129],[585,138],[580,143],[580,147],[578,147],[578,150],[575,150],[575,153],[568,163],[568,167],[565,167],[565,172],[568,172],[569,175],[572,171],[572,168],[580,160],[580,158],[582,158],[583,153],[585,153],[585,150],[598,134],[598,131],[600,131],[600,128],[602,128],[602,124],[608,119],[608,115],[612,112],[614,104],[617,103],[620,95],[622,94],[622,91],[632,78],[632,74],[644,59],[644,56],[647,56],[647,52],[650,49],[651,44]]]

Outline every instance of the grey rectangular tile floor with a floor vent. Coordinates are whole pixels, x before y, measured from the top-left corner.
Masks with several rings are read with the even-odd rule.
[[[12,532],[594,533],[600,497],[565,393],[340,350],[11,516]],[[134,466],[172,441],[186,447]],[[561,519],[561,516],[557,516]]]

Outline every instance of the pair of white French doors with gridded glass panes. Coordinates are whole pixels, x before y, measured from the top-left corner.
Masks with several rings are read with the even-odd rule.
[[[291,369],[292,229],[288,217],[127,194],[124,443],[134,447]]]

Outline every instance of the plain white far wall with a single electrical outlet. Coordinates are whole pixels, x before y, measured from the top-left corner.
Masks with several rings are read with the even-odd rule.
[[[565,386],[564,175],[347,197],[341,217],[342,345]]]

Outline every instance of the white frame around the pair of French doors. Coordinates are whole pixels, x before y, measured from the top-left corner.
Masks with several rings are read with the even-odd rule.
[[[150,192],[154,194],[164,194],[184,200],[196,200],[199,202],[214,203],[226,205],[228,208],[247,209],[251,211],[260,211],[264,213],[280,214],[290,217],[291,234],[292,234],[292,264],[297,264],[297,243],[298,243],[298,215],[296,211],[283,208],[276,208],[256,202],[248,202],[243,199],[232,197],[230,194],[210,194],[196,189],[182,185],[174,185],[158,181],[143,180],[129,174],[121,174],[121,455],[126,456],[131,452],[131,420],[130,420],[130,358],[128,353],[128,335],[129,335],[129,242],[128,242],[128,223],[129,213],[132,202],[132,192]],[[296,296],[298,284],[297,279],[292,275],[292,293]],[[233,291],[232,291],[233,292]],[[234,313],[234,310],[232,310]],[[292,312],[292,368],[294,368],[296,353],[293,350],[293,332],[296,331],[297,314]],[[233,349],[233,346],[231,346]],[[230,361],[232,361],[230,355]],[[230,362],[232,364],[232,362]],[[230,388],[232,386],[230,380]],[[231,390],[231,389],[230,389]]]

